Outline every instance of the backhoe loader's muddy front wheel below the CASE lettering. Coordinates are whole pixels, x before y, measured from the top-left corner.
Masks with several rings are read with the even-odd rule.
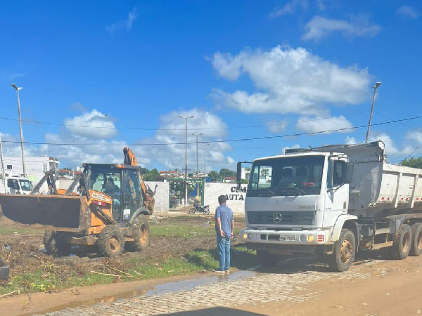
[[[104,257],[120,256],[123,252],[124,237],[115,225],[106,225],[98,235],[98,252]]]

